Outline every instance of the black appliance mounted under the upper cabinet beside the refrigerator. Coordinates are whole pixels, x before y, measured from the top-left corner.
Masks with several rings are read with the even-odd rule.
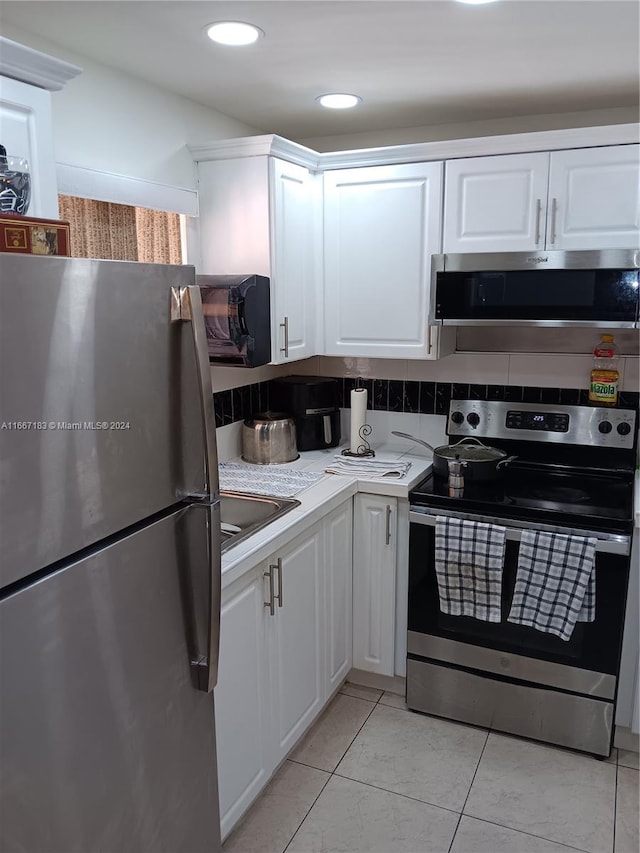
[[[269,279],[263,275],[198,275],[209,360],[236,367],[271,361]]]

